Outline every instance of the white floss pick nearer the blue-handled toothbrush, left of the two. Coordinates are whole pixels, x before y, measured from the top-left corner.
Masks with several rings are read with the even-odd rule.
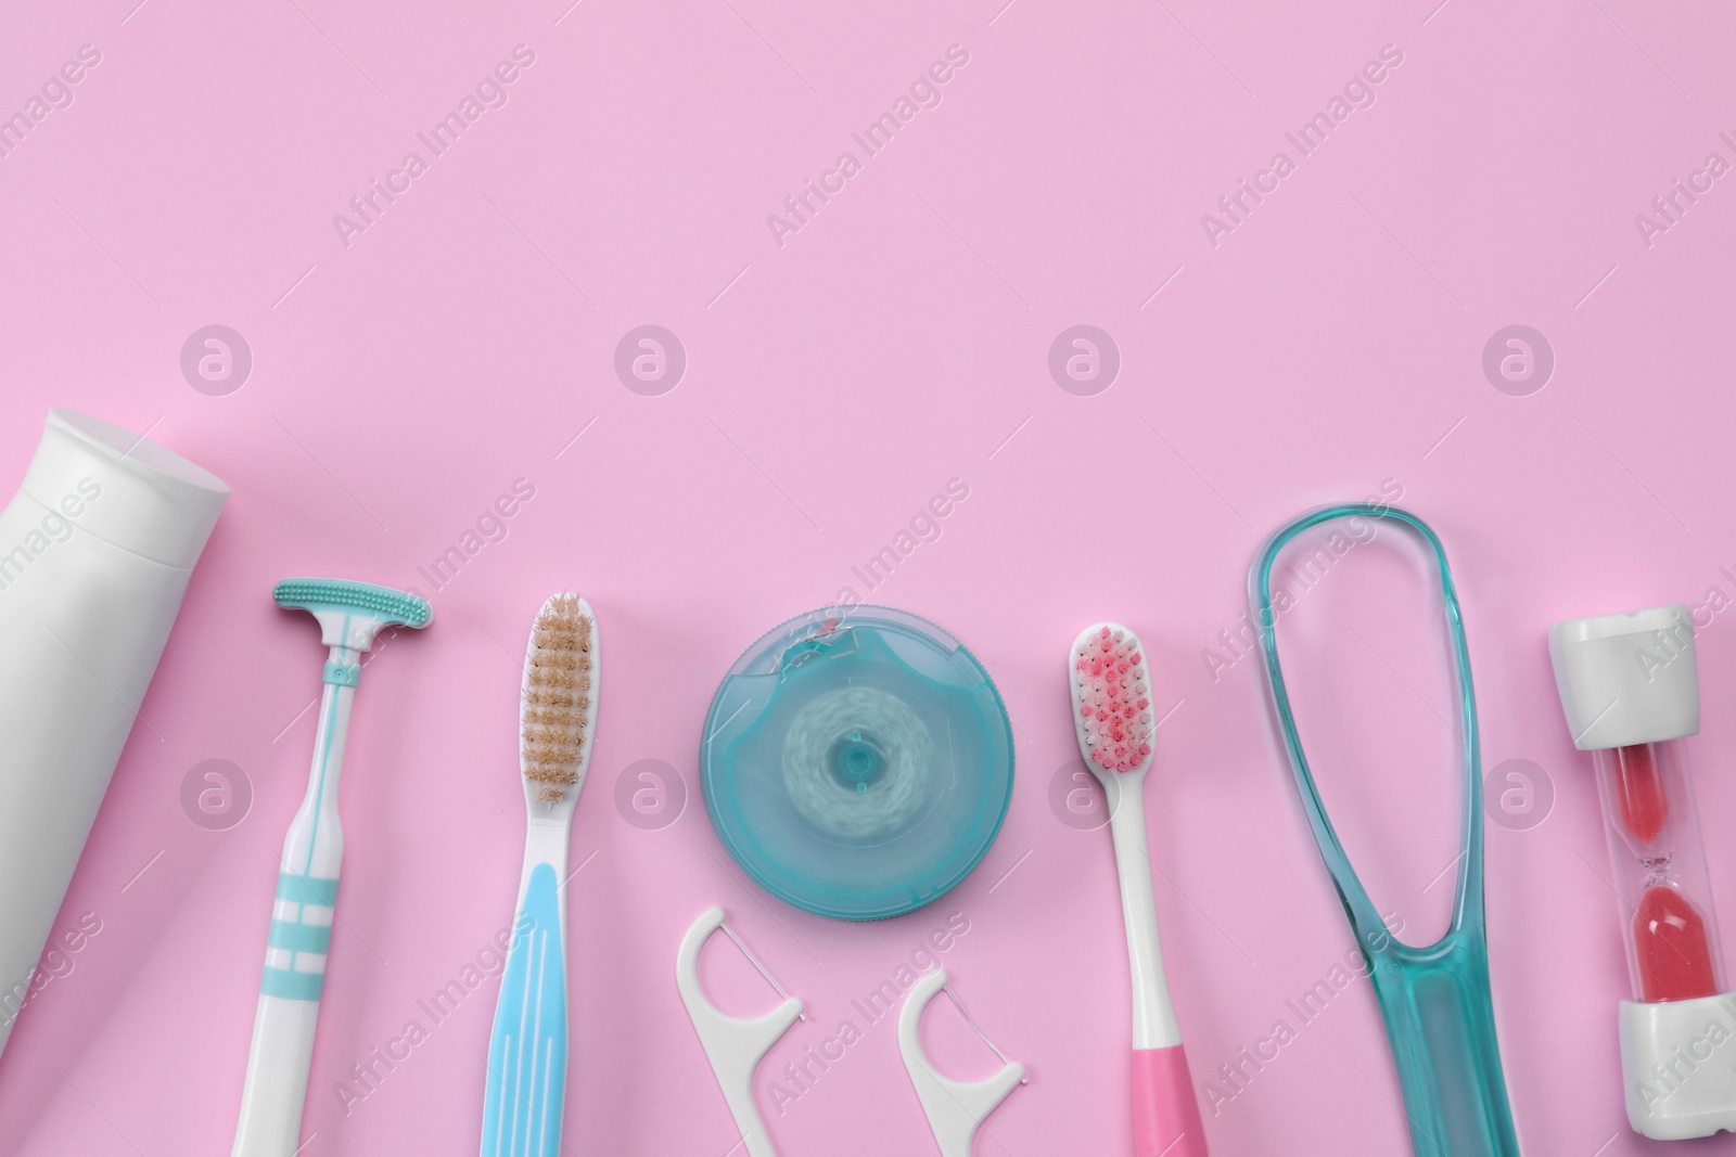
[[[681,952],[675,954],[675,985],[681,989],[681,999],[687,1006],[693,1029],[700,1034],[700,1044],[705,1046],[705,1056],[712,1062],[717,1086],[724,1091],[724,1100],[729,1101],[729,1114],[736,1119],[741,1140],[746,1141],[748,1157],[778,1157],[778,1150],[771,1147],[771,1134],[766,1133],[766,1122],[760,1121],[759,1108],[753,1105],[753,1069],[802,1015],[802,1001],[786,996],[771,973],[760,968],[760,963],[746,951],[746,945],[724,928],[724,933],[736,940],[743,954],[785,999],[783,1004],[753,1020],[719,1011],[705,996],[705,989],[700,987],[700,947],[719,928],[724,928],[724,909],[720,907],[712,907],[693,921],[687,935],[681,938]]]

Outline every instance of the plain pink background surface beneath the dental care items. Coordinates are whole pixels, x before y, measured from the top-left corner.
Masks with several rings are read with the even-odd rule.
[[[779,1152],[932,1152],[891,1023],[795,1103],[767,1082],[951,912],[974,1020],[1031,1069],[979,1154],[1130,1152],[1127,968],[1109,838],[1050,789],[1075,758],[1062,677],[1095,618],[1139,630],[1158,699],[1158,909],[1198,1084],[1292,1018],[1351,933],[1264,725],[1252,661],[1203,657],[1245,609],[1259,541],[1391,479],[1460,579],[1484,762],[1535,762],[1554,807],[1489,826],[1495,1003],[1535,1154],[1651,1152],[1614,1048],[1627,990],[1587,760],[1568,742],[1547,624],[1736,595],[1729,430],[1736,177],[1647,246],[1635,213],[1708,153],[1736,161],[1736,17],[1715,3],[799,5],[102,0],[0,19],[0,111],[83,43],[75,101],[0,158],[0,479],[73,406],[234,487],[142,704],[61,926],[101,931],[0,1060],[0,1148],[227,1152],[273,857],[300,798],[321,650],[271,583],[417,586],[437,621],[370,664],[344,784],[349,859],[304,1150],[469,1154],[495,982],[365,1100],[352,1062],[420,1016],[510,919],[523,847],[516,694],[540,600],[582,588],[608,656],[573,834],[571,1154],[722,1157],[736,1138],[675,996],[686,925],[719,902],[812,1018],[759,1095]],[[333,215],[387,179],[476,82],[535,64],[345,246]],[[779,245],[766,219],[950,45],[969,52],[880,154]],[[1312,156],[1285,141],[1366,61],[1403,64]],[[1297,160],[1213,246],[1201,215],[1272,153]],[[1300,160],[1299,160],[1300,158]],[[427,154],[425,154],[427,160]],[[1160,291],[1161,290],[1161,291]],[[207,324],[252,349],[194,390]],[[660,397],[621,337],[687,354]],[[1068,326],[1108,331],[1113,385],[1049,373]],[[1540,330],[1554,376],[1496,390],[1483,349]],[[231,383],[233,385],[233,383]],[[1535,382],[1531,383],[1536,385]],[[1528,387],[1529,389],[1529,387]],[[578,441],[575,435],[583,432]],[[516,479],[535,500],[443,590],[418,574]],[[969,498],[878,590],[851,567],[950,479]],[[1444,912],[1448,709],[1425,588],[1356,555],[1309,602],[1311,739],[1377,900],[1415,935]],[[873,926],[790,911],[731,871],[694,779],[729,663],[840,588],[927,616],[995,675],[1019,781],[979,871]],[[1375,598],[1370,592],[1385,592]],[[1337,618],[1333,618],[1337,616]],[[1354,624],[1361,642],[1345,630]],[[1299,644],[1302,638],[1299,637]],[[1736,949],[1736,630],[1701,633],[1694,741],[1713,890]],[[1397,680],[1392,671],[1401,673]],[[1326,678],[1332,683],[1326,683]],[[182,812],[201,760],[252,810]],[[663,760],[689,800],[656,831],[615,788]],[[1335,812],[1337,814],[1337,812]],[[773,997],[708,952],[717,1001]],[[993,1058],[941,1003],[957,1075]],[[1234,1100],[1215,1154],[1408,1152],[1366,984]],[[1682,1152],[1736,1152],[1736,1140]]]

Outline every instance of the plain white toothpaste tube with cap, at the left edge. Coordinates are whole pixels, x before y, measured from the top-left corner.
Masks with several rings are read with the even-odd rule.
[[[0,512],[0,1049],[229,487],[49,411]]]

